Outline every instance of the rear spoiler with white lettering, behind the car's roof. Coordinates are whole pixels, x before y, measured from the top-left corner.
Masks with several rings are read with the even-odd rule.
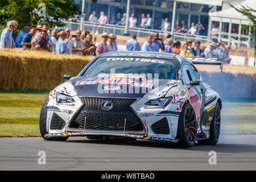
[[[221,73],[223,69],[223,60],[218,58],[204,58],[204,57],[187,57],[193,64],[210,64],[220,65]]]

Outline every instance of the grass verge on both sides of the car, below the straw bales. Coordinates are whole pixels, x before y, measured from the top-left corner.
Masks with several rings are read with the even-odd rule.
[[[49,90],[0,90],[0,137],[39,137],[39,114]],[[256,134],[256,102],[223,102],[222,134]]]

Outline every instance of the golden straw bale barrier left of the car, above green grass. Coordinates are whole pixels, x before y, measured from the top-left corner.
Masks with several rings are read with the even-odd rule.
[[[92,59],[93,56],[0,49],[0,88],[52,89],[65,81],[64,74],[77,76]]]

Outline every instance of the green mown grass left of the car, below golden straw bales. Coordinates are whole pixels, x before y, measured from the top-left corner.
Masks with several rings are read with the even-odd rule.
[[[48,93],[0,92],[0,137],[39,137],[39,114]]]

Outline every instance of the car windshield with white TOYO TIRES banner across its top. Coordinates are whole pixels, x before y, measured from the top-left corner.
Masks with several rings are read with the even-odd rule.
[[[82,76],[94,78],[101,74],[113,73],[144,74],[151,75],[152,78],[175,79],[174,62],[155,57],[101,57],[94,61]]]

